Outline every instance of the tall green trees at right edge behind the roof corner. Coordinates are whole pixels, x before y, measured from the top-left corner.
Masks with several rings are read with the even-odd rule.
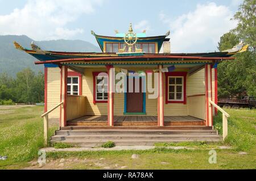
[[[218,95],[227,98],[240,96],[243,91],[256,96],[256,0],[245,0],[234,15],[238,26],[220,38],[218,49],[230,49],[239,41],[250,44],[250,50],[236,54],[236,60],[223,61],[218,65]],[[253,32],[254,30],[254,32]]]

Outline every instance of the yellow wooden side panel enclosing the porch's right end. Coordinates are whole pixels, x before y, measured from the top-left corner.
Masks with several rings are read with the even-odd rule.
[[[205,119],[205,94],[187,96],[188,115]]]

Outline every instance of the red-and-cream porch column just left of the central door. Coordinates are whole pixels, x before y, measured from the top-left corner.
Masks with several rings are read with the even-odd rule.
[[[114,126],[114,68],[113,65],[107,65],[108,69],[108,125]]]

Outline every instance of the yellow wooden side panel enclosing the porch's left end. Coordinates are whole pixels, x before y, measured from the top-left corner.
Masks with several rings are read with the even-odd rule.
[[[67,120],[76,119],[86,115],[86,97],[82,95],[67,96]]]

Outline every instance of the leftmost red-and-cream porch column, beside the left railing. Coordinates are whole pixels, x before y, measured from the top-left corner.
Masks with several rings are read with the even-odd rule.
[[[60,102],[63,102],[60,108],[60,127],[65,127],[67,122],[67,77],[68,77],[68,67],[63,65],[60,70],[61,78],[61,94]]]

